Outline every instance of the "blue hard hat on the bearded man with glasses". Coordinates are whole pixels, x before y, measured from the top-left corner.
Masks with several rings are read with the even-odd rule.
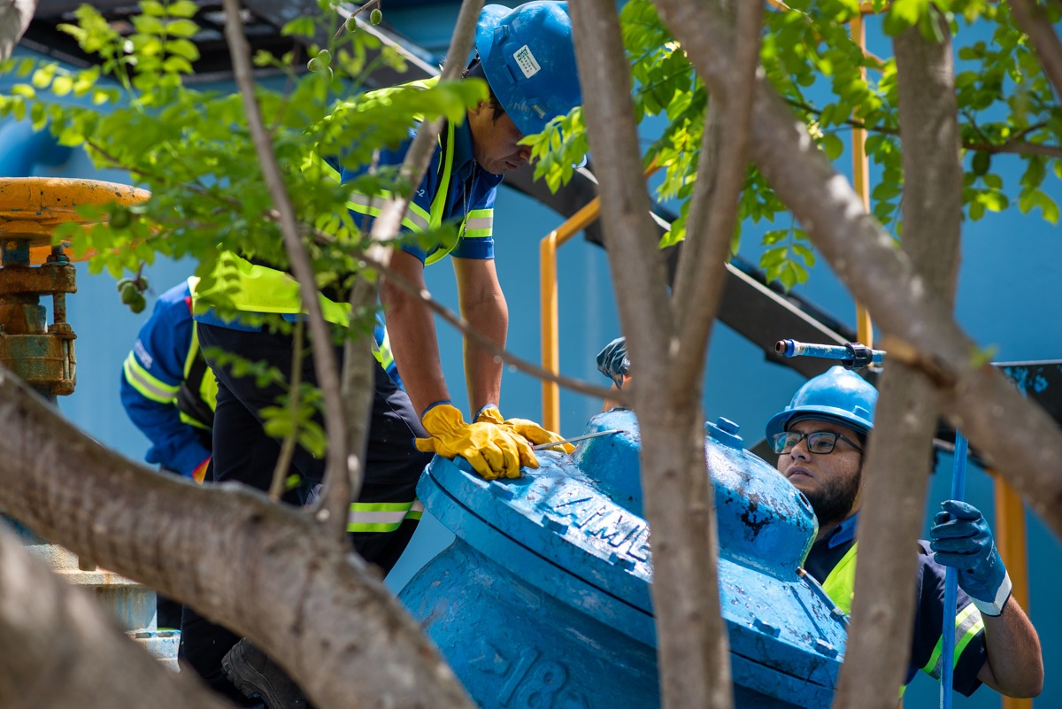
[[[767,439],[787,431],[803,418],[836,421],[866,435],[874,429],[877,390],[844,367],[830,367],[812,377],[793,394],[789,405],[767,421]]]

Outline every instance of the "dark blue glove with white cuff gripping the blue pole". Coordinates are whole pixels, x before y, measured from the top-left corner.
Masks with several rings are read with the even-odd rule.
[[[1003,565],[992,530],[980,509],[959,500],[940,503],[944,512],[932,518],[929,548],[938,564],[959,571],[964,590],[982,616],[999,616],[1010,598],[1010,574]]]

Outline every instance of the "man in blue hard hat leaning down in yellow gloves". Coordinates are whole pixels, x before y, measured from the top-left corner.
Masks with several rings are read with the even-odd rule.
[[[487,5],[476,30],[476,50],[466,75],[485,79],[490,99],[470,108],[463,122],[448,122],[443,127],[427,174],[414,190],[401,223],[407,234],[423,235],[451,223],[458,227],[458,239],[453,243],[406,239],[394,250],[390,266],[423,291],[424,267],[449,255],[462,316],[472,328],[504,345],[509,313],[494,266],[495,194],[503,173],[530,159],[530,149],[518,144],[519,140],[541,132],[547,122],[581,103],[567,3],[529,2],[515,8]],[[426,84],[414,82],[382,91],[418,90]],[[411,141],[412,135],[397,149],[380,150],[375,167],[401,165]],[[327,157],[321,162],[324,165],[318,167],[343,183],[370,169],[349,169]],[[367,181],[354,184],[364,186]],[[355,188],[347,203],[355,223],[370,230],[386,197],[382,192],[364,193]],[[251,315],[282,313],[288,319],[302,316],[297,289],[292,288],[294,281],[284,269],[253,255],[225,253],[219,259],[219,271],[216,282],[226,291],[235,287],[235,295],[225,299],[238,311]],[[251,318],[224,319],[211,309],[211,295],[206,291],[195,294],[195,318],[204,348],[217,347],[252,361],[266,359],[281,371],[290,371],[290,336],[255,326]],[[325,317],[339,326],[346,325],[349,317],[346,298],[341,295],[322,292]],[[382,370],[377,371],[359,501],[387,511],[396,518],[397,529],[404,515],[414,509],[416,481],[432,453],[462,456],[487,480],[516,478],[523,466],[537,467],[532,445],[561,438],[533,421],[500,414],[501,362],[466,341],[464,368],[470,413],[466,420],[451,402],[443,378],[431,311],[387,277],[381,278],[380,300],[406,392],[388,384]],[[272,466],[268,461],[263,465],[262,451],[269,451],[268,457],[275,463],[277,448],[262,428],[260,412],[275,405],[275,393],[224,366],[213,368],[219,382],[215,479],[264,489]],[[303,376],[316,382],[309,365]],[[564,448],[571,450],[570,445]],[[311,482],[323,478],[323,457],[299,450],[293,465]],[[366,560],[387,569],[408,537],[395,537],[383,523],[369,526],[356,547]],[[298,688],[251,643],[187,612],[182,630],[183,659],[229,698],[240,703],[242,694],[250,693],[260,695],[270,709],[306,706]],[[222,676],[222,667],[232,682]],[[234,685],[241,691],[236,692]]]

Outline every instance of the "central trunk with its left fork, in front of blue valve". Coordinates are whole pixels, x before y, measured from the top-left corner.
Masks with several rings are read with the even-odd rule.
[[[730,662],[719,613],[715,512],[704,456],[700,380],[671,371],[675,342],[664,263],[646,235],[650,203],[641,178],[630,73],[611,0],[571,3],[576,56],[589,141],[603,174],[601,205],[623,332],[637,362],[634,410],[641,431],[646,517],[652,529],[653,607],[666,707],[731,706]],[[709,313],[708,319],[714,313]],[[690,385],[674,396],[675,383]],[[661,384],[668,382],[667,386]],[[696,531],[696,533],[691,533]]]

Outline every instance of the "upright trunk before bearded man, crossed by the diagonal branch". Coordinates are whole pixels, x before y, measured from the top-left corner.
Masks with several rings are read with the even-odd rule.
[[[939,18],[938,18],[939,19]],[[893,40],[904,150],[903,248],[925,288],[955,301],[962,163],[950,33],[911,28]],[[915,540],[922,530],[940,416],[935,382],[886,361],[867,456],[852,628],[835,706],[891,709],[907,674],[913,633]]]

